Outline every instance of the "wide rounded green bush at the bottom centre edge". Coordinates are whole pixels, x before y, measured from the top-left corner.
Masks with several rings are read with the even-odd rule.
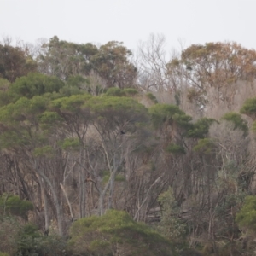
[[[69,250],[76,255],[174,255],[172,244],[126,212],[81,218],[71,228]]]

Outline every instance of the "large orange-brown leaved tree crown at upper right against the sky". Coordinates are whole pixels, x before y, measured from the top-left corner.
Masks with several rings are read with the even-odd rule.
[[[255,61],[255,50],[236,43],[218,42],[191,45],[183,50],[180,59],[172,59],[167,68],[170,73],[177,70],[189,84],[190,102],[197,102],[199,106],[225,102],[230,108],[236,92],[232,84],[239,80],[253,81]]]

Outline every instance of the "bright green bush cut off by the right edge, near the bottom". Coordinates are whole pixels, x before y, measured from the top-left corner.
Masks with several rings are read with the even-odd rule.
[[[256,231],[256,196],[248,195],[241,211],[236,214],[236,223],[248,230]]]

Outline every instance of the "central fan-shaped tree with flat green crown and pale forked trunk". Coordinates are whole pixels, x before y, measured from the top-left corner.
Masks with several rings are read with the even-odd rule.
[[[108,182],[102,188],[98,211],[104,212],[103,202],[108,192],[108,207],[113,206],[114,181],[127,154],[137,147],[137,137],[148,121],[147,108],[129,97],[95,97],[88,102],[93,115],[93,126],[100,137],[105,170],[108,170]],[[129,147],[129,142],[134,143]],[[124,173],[123,173],[124,175]]]

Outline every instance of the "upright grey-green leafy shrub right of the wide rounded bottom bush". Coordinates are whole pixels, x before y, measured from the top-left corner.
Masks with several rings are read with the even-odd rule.
[[[172,188],[162,193],[158,201],[162,209],[162,218],[158,230],[160,234],[175,242],[176,247],[182,249],[184,247],[186,225],[178,218],[180,208],[174,198]]]

